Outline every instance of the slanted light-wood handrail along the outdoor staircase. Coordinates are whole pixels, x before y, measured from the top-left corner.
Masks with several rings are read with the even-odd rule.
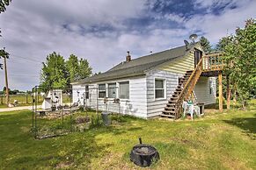
[[[187,88],[188,88],[188,85],[191,83],[192,79],[194,78],[194,74],[197,72],[197,70],[202,69],[202,60],[203,60],[203,57],[201,57],[201,60],[199,60],[198,64],[196,65],[196,67],[194,68],[194,71],[192,72],[192,74],[190,75],[189,79],[187,80],[187,83],[185,84],[185,86],[183,87],[183,89],[181,90],[179,96],[178,96],[178,99],[175,103],[175,118],[179,118],[178,117],[178,109],[180,109],[180,106],[181,106],[181,100],[183,100],[184,98],[184,95],[185,95],[185,91],[187,91]]]

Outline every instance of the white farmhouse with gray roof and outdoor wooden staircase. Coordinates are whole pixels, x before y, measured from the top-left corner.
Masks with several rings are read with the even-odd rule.
[[[105,73],[73,82],[73,102],[135,117],[179,118],[180,101],[191,94],[197,103],[216,103],[217,62],[203,57],[199,43],[134,60],[128,53]],[[116,98],[120,103],[114,103]]]

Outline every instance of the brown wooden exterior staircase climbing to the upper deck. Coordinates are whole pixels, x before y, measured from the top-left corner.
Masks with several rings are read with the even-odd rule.
[[[161,117],[179,118],[182,116],[182,104],[184,100],[192,94],[194,86],[198,81],[202,72],[202,60],[198,62],[193,71],[187,71],[183,76],[177,89],[172,94],[172,97],[168,100],[165,110],[160,115]]]

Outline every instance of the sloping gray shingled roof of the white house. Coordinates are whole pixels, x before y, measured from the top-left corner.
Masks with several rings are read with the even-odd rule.
[[[188,46],[192,49],[193,46]],[[146,55],[129,62],[121,62],[120,64],[112,67],[110,70],[102,74],[93,75],[91,77],[85,78],[81,81],[74,82],[72,84],[88,83],[95,81],[106,81],[114,80],[125,77],[131,77],[135,75],[143,75],[147,70],[153,67],[157,67],[167,61],[173,60],[178,57],[182,57],[187,53],[186,46],[179,46],[169,50],[165,50],[160,53],[153,53]]]

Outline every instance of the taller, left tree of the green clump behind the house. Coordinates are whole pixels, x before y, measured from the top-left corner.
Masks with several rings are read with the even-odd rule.
[[[43,64],[40,76],[40,86],[43,91],[65,88],[68,84],[68,72],[64,58],[59,53],[50,53]]]

